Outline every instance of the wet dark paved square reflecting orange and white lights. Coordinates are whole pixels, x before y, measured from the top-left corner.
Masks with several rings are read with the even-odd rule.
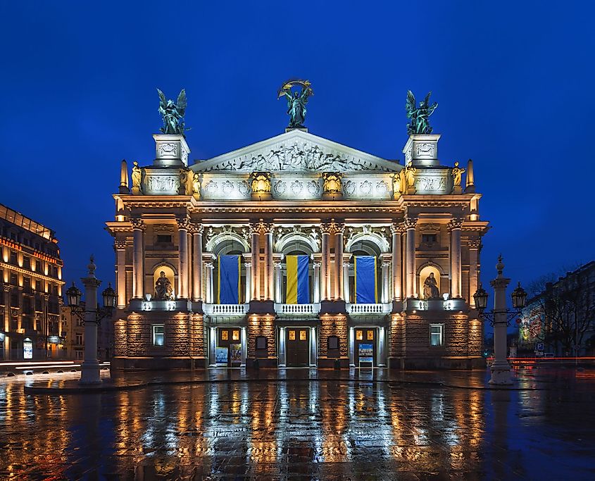
[[[23,394],[75,378],[0,379],[0,478],[595,479],[592,370],[520,370],[516,390],[484,372],[208,370]]]

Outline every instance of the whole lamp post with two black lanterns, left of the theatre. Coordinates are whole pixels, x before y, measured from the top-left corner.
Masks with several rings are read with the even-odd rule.
[[[97,361],[97,325],[101,319],[109,316],[115,307],[115,292],[109,285],[101,295],[104,298],[104,307],[97,306],[97,287],[101,281],[95,277],[95,263],[93,256],[89,266],[89,275],[82,277],[84,285],[84,308],[80,306],[81,292],[73,285],[66,290],[68,306],[77,318],[84,322],[84,361],[81,366],[80,384],[100,384],[99,362]]]

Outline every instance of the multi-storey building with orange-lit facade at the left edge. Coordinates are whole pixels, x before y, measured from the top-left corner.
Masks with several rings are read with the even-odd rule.
[[[54,231],[0,204],[0,359],[63,356],[57,244]]]

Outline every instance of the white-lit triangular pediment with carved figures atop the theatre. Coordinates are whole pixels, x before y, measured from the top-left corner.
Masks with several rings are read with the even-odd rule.
[[[227,154],[196,161],[191,168],[195,172],[396,172],[403,165],[296,129]]]

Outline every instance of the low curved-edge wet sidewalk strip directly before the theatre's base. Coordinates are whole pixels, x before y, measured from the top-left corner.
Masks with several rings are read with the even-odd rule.
[[[206,370],[148,371],[142,373],[102,372],[101,385],[81,386],[77,379],[31,380],[25,385],[26,394],[88,394],[130,390],[157,385],[189,385],[200,383],[230,382],[354,382],[386,383],[389,386],[419,385],[458,389],[521,389],[539,390],[548,388],[548,380],[535,372],[514,372],[512,386],[489,385],[489,370],[475,371],[400,371],[382,368],[332,370],[316,368],[244,369],[210,368]]]

